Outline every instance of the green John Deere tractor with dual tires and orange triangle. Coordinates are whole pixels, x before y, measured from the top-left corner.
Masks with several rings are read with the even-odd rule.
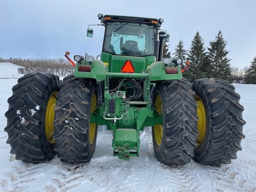
[[[101,125],[111,130],[113,155],[123,160],[139,156],[145,126],[152,127],[154,152],[163,164],[236,159],[245,121],[234,86],[182,78],[180,58],[162,59],[169,40],[160,30],[163,19],[98,18],[105,27],[100,60],[76,55],[74,74],[63,82],[32,73],[12,88],[4,130],[16,160],[47,162],[57,154],[65,163],[89,162]],[[88,28],[87,36],[92,34]]]

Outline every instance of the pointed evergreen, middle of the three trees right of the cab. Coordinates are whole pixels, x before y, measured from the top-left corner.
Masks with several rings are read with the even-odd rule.
[[[190,50],[188,52],[188,60],[190,61],[190,68],[183,73],[184,78],[189,81],[206,77],[207,57],[204,48],[204,41],[199,32],[196,32]]]

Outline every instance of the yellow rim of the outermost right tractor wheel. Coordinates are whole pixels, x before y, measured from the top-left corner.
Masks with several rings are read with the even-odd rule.
[[[196,95],[195,100],[198,104],[198,108],[196,109],[197,116],[199,117],[199,121],[197,122],[197,130],[199,132],[198,137],[196,138],[197,145],[200,146],[204,141],[204,136],[206,132],[206,112],[204,108],[204,104],[200,97]]]

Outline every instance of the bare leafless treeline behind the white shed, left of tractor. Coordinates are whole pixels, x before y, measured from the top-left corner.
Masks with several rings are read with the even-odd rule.
[[[73,73],[74,67],[64,58],[59,59],[22,59],[22,58],[0,58],[0,62],[10,62],[25,67],[18,69],[20,74],[33,72],[51,73],[57,76],[67,76]]]

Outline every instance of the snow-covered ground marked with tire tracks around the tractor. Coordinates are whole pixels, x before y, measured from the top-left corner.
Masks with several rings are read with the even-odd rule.
[[[229,165],[205,166],[192,160],[185,166],[159,163],[152,146],[151,129],[140,136],[140,157],[130,161],[112,156],[112,134],[100,128],[90,163],[68,166],[57,158],[49,163],[25,164],[10,155],[4,132],[16,79],[0,79],[0,191],[1,192],[254,192],[256,191],[256,85],[234,84],[244,106],[243,150]]]

